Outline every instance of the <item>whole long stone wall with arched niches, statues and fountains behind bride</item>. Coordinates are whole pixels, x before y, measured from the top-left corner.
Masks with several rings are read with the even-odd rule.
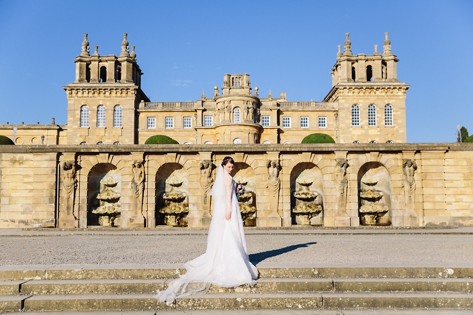
[[[226,155],[250,225],[473,225],[471,144],[23,145],[0,147],[0,228],[208,226]]]

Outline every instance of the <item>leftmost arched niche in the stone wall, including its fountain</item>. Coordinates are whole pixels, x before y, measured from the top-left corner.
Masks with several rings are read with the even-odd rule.
[[[87,178],[87,225],[120,226],[121,174],[110,163],[92,167]]]

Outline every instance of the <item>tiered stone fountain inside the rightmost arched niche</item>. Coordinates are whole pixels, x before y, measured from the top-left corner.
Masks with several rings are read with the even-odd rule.
[[[383,193],[375,189],[378,179],[367,177],[361,179],[361,224],[380,225],[379,219],[384,216],[389,207],[380,205],[379,201],[383,198]]]

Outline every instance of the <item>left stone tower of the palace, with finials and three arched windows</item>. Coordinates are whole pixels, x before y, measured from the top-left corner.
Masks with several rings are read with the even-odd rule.
[[[123,34],[120,56],[90,55],[87,34],[76,60],[76,80],[64,86],[67,93],[67,144],[136,144],[142,72],[135,46],[129,52]]]

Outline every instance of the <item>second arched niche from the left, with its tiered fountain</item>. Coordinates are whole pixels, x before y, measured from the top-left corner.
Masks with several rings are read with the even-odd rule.
[[[189,176],[178,163],[166,163],[156,172],[156,225],[187,226]]]

